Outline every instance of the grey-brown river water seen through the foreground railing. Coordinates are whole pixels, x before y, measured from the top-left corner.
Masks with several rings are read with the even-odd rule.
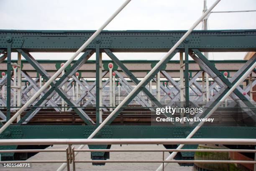
[[[65,149],[66,145],[54,145],[47,149]],[[78,148],[78,146],[75,146]],[[165,149],[162,145],[112,145],[111,149]],[[87,149],[84,148],[84,149]],[[165,158],[169,153],[165,153]],[[89,160],[89,152],[80,152],[77,160]],[[161,152],[110,152],[110,160],[161,160]],[[29,160],[66,160],[64,152],[41,152]],[[32,163],[31,168],[0,168],[1,171],[56,171],[60,163]],[[92,166],[92,163],[76,163],[77,171],[155,171],[160,163],[106,163],[105,166]],[[72,170],[72,164],[71,164]],[[193,171],[193,167],[169,163],[164,171]]]

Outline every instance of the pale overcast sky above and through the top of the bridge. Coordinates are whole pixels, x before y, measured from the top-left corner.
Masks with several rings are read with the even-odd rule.
[[[207,6],[215,0],[207,0]],[[97,30],[124,0],[0,0],[0,29]],[[203,0],[132,0],[105,30],[187,30],[202,15]],[[256,10],[256,0],[221,0],[213,11]],[[209,30],[256,29],[256,12],[213,13]],[[200,30],[201,26],[197,27]],[[68,59],[72,53],[31,53]],[[159,60],[164,53],[115,53],[120,59]],[[210,53],[210,59],[243,59],[245,53]],[[15,59],[15,54],[13,58]],[[103,55],[103,59],[108,59]],[[95,56],[92,57],[95,59]],[[174,59],[178,59],[175,57]]]

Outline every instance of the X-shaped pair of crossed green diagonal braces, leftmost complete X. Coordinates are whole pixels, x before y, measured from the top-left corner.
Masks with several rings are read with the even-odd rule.
[[[29,56],[27,55],[27,53],[24,53],[23,50],[18,50],[25,58],[27,58],[27,60],[31,63],[33,63],[32,60],[30,60]],[[83,63],[85,63],[90,56],[92,55],[92,50],[87,50],[80,58],[79,60],[77,60],[74,65],[72,65],[69,70],[67,70],[67,72],[56,82],[54,81],[54,83],[51,83],[51,88],[45,93],[44,96],[42,96],[40,98],[40,100],[36,103],[36,106],[40,106],[44,101],[48,101],[49,99],[47,99],[50,95],[53,96],[53,91],[56,91],[57,93],[61,94],[63,98],[66,98],[66,102],[69,104],[69,106],[76,106],[74,101],[72,101],[72,99],[68,99],[67,98],[67,94],[64,93],[64,91],[59,88],[62,87],[64,85],[65,82],[67,82],[67,80],[69,80],[69,78],[74,75],[74,73],[77,71],[75,69],[78,69],[79,66],[82,66]],[[33,58],[33,57],[32,57]],[[32,64],[33,65],[33,64]],[[40,64],[36,64],[33,65],[37,72],[40,73],[42,75],[42,77],[44,77],[45,80],[48,80],[49,78],[47,76],[44,75],[44,73],[46,73],[46,71],[40,70],[40,68],[37,67],[37,65]],[[61,91],[62,90],[62,91]],[[35,110],[35,108],[31,108],[30,111],[28,111],[25,116],[23,116],[20,121],[18,122],[18,124],[23,123],[23,121],[26,120],[26,118],[28,118],[28,116],[31,115],[31,113],[33,113],[33,111]],[[74,108],[74,111],[84,120],[85,123],[87,124],[92,124],[94,123],[89,116],[87,116],[86,113],[84,113],[84,111],[82,111],[81,108]]]

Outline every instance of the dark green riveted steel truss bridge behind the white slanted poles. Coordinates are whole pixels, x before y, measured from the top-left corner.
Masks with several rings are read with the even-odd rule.
[[[0,118],[8,121],[33,93],[65,61],[35,60],[31,52],[75,52],[95,31],[0,30]],[[127,30],[102,31],[46,91],[36,99],[3,133],[1,139],[87,138],[113,111],[156,60],[119,60],[115,52],[167,52],[186,31]],[[152,125],[156,108],[175,106],[203,107],[203,118],[232,86],[255,65],[249,60],[208,60],[208,52],[256,51],[256,30],[198,30],[181,43],[156,72],[120,108],[95,138],[186,138],[195,128],[184,125]],[[18,53],[12,60],[11,53]],[[89,60],[96,54],[96,60]],[[111,60],[102,61],[102,53]],[[179,53],[180,60],[171,60]],[[23,56],[25,60],[20,60]],[[192,60],[189,60],[189,56]],[[209,79],[207,78],[209,76]],[[223,101],[222,108],[241,108],[245,122],[225,124],[232,112],[213,117],[220,125],[202,126],[193,138],[256,138],[255,70]],[[113,79],[114,78],[114,79]],[[231,103],[232,102],[232,103]],[[219,109],[218,109],[219,110]],[[239,119],[239,117],[238,117]],[[241,119],[241,118],[240,118]],[[246,122],[250,120],[251,122]],[[3,149],[46,148],[44,146],[0,146]],[[174,148],[166,144],[166,148]],[[187,145],[197,148],[197,145]],[[90,145],[110,148],[110,145]],[[1,160],[27,159],[35,153],[2,153]],[[193,158],[181,152],[177,158]],[[92,159],[107,159],[109,152],[93,152]]]

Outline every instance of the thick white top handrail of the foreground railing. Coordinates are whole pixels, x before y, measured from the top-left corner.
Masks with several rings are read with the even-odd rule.
[[[101,138],[101,139],[2,139],[0,145],[49,145],[49,144],[239,144],[256,145],[248,138]]]

